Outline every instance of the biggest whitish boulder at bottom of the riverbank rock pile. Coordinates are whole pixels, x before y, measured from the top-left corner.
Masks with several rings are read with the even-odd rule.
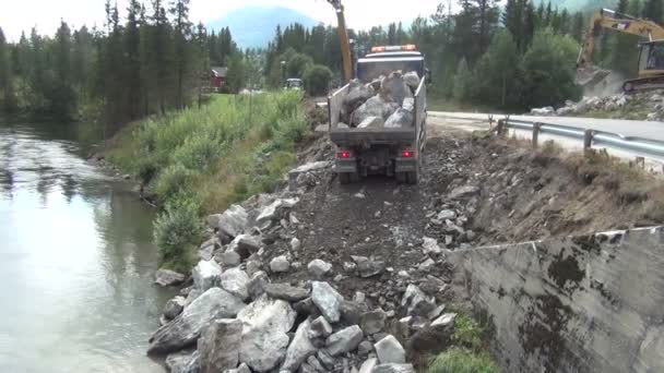
[[[256,372],[273,370],[286,356],[296,312],[283,300],[263,296],[239,312],[244,323],[240,361]]]

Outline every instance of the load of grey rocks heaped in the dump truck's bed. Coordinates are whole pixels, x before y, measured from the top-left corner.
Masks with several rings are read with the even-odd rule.
[[[370,83],[349,83],[337,128],[404,128],[413,125],[414,94],[419,85],[416,72],[401,70]]]

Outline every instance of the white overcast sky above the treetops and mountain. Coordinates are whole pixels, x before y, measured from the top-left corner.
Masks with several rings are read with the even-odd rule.
[[[127,0],[117,0],[121,15]],[[448,0],[345,0],[346,22],[353,28],[384,25],[393,21],[410,21],[417,15],[430,15],[439,2]],[[21,31],[33,26],[39,33],[54,34],[60,19],[75,27],[104,24],[105,0],[0,0],[0,27],[10,40],[17,40]],[[150,0],[144,0],[149,3]],[[166,1],[168,2],[168,1]],[[332,7],[325,0],[191,0],[191,20],[208,23],[221,19],[228,11],[248,4],[273,4],[293,8],[325,23],[335,24]],[[405,7],[404,7],[405,5]],[[257,25],[259,26],[259,25]]]

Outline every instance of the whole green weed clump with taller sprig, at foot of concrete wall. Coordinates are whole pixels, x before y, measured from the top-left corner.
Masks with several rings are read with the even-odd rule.
[[[485,345],[484,327],[466,312],[454,318],[453,347],[430,360],[428,373],[499,373]]]

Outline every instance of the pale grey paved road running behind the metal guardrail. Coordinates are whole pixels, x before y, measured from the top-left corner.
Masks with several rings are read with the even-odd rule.
[[[453,112],[453,111],[429,111],[429,117],[460,119],[469,125],[486,128],[488,113]],[[494,115],[494,119],[503,118],[502,115]],[[510,116],[515,120],[538,121],[543,123],[561,124],[584,128],[586,130],[606,131],[620,134],[625,137],[641,137],[664,142],[664,122],[650,122],[644,120],[619,120],[576,117],[535,117],[535,116]]]

